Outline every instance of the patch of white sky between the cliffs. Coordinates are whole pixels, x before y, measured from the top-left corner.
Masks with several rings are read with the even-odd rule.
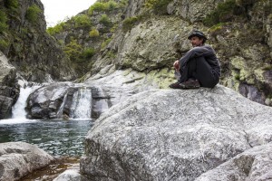
[[[65,18],[70,18],[88,9],[96,0],[41,0],[47,27],[52,27]]]

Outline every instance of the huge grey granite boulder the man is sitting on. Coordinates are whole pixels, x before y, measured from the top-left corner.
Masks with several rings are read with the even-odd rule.
[[[148,90],[103,113],[88,132],[90,180],[194,180],[272,139],[272,109],[217,86]]]

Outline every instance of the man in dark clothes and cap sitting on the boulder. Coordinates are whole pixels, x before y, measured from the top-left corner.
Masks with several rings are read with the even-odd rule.
[[[172,89],[213,88],[219,83],[221,68],[216,52],[206,45],[204,33],[194,30],[188,39],[193,48],[185,53],[180,60],[174,62],[178,81],[170,84]]]

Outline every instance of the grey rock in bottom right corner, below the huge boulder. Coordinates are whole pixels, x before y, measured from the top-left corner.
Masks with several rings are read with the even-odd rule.
[[[196,181],[272,179],[272,144],[251,148],[199,176]]]

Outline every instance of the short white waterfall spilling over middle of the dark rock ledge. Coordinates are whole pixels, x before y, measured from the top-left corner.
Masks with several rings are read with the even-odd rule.
[[[91,119],[92,90],[82,87],[73,93],[71,106],[72,119]]]

